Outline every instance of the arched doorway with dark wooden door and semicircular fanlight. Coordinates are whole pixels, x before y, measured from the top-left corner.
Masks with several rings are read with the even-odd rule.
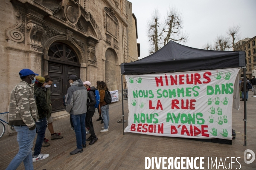
[[[62,99],[70,87],[67,81],[71,74],[80,77],[80,65],[76,52],[63,42],[52,43],[48,50],[48,75],[52,77],[52,112],[63,111]]]

